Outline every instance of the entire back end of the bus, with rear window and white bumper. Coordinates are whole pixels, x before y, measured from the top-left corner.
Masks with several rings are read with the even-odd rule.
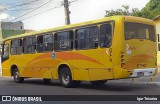
[[[151,76],[157,73],[157,39],[155,23],[145,19],[125,18],[123,23],[125,69],[130,77]],[[126,36],[129,36],[126,37]]]

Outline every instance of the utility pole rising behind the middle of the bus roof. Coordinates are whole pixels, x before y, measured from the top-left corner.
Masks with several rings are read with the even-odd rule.
[[[64,0],[64,12],[65,12],[65,24],[70,24],[70,11],[69,11],[69,3],[68,0]]]

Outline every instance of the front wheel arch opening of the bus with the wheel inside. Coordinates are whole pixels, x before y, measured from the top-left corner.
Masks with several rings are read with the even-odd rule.
[[[24,81],[24,78],[20,77],[19,70],[16,65],[11,66],[11,76],[13,76],[13,79],[16,83],[22,83]]]

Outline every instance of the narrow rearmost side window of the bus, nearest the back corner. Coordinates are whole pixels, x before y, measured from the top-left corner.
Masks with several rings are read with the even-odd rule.
[[[111,24],[103,24],[100,26],[100,47],[109,48],[112,42],[112,26]]]

